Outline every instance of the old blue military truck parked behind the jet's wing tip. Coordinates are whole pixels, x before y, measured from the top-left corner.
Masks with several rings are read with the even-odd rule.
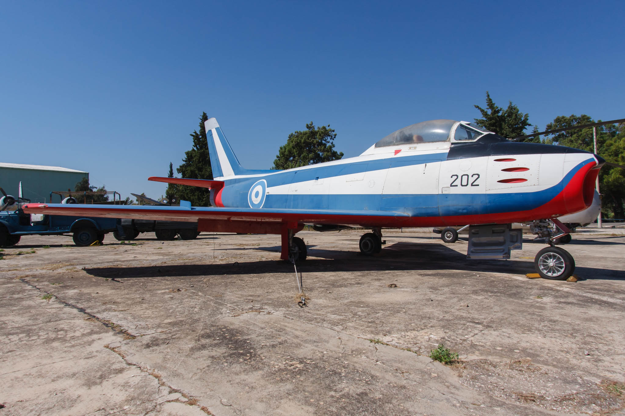
[[[91,246],[103,241],[104,235],[117,229],[116,218],[91,218],[84,216],[36,215],[25,213],[21,205],[30,202],[27,198],[6,195],[0,198],[0,247],[19,243],[22,235],[73,234],[77,246]],[[41,217],[41,218],[39,218]]]

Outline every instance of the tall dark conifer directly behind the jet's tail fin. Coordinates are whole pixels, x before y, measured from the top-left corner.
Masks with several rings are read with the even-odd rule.
[[[202,112],[199,120],[199,132],[194,130],[190,134],[193,142],[192,148],[184,152],[183,163],[176,171],[183,178],[210,180],[212,179],[211,158],[208,153],[206,128],[204,128],[204,122],[208,120],[206,113]],[[169,173],[173,177],[173,165],[171,163]],[[168,198],[175,195],[179,200],[191,201],[193,206],[211,206],[211,192],[207,188],[169,184],[165,195]]]

